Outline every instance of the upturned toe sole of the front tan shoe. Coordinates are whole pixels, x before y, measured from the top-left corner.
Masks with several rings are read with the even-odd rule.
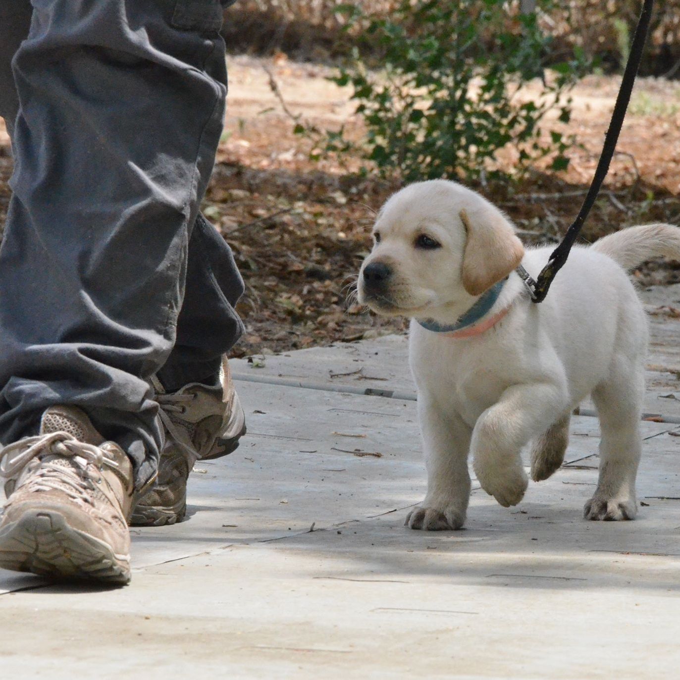
[[[128,583],[130,556],[74,529],[60,513],[27,511],[0,529],[0,567],[55,579]]]

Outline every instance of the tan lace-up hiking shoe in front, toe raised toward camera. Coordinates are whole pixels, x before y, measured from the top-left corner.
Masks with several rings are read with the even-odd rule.
[[[0,567],[60,579],[130,580],[133,471],[78,408],[55,406],[40,434],[0,449],[7,502]]]

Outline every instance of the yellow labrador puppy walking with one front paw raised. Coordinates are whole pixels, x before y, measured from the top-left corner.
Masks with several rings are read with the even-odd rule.
[[[535,278],[552,248],[524,250],[508,218],[476,192],[433,180],[382,207],[359,301],[411,317],[410,363],[428,471],[413,529],[458,529],[481,487],[508,507],[522,500],[520,450],[531,477],[562,464],[569,417],[592,394],[602,440],[590,520],[632,520],[641,452],[647,319],[626,275],[653,256],[680,259],[680,229],[636,226],[573,249],[543,303],[515,268]]]

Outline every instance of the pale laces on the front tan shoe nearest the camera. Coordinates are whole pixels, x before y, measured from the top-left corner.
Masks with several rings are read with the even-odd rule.
[[[42,460],[47,456],[59,458]],[[64,464],[64,458],[69,459],[69,464]],[[90,505],[94,505],[92,482],[99,483],[101,475],[95,479],[95,475],[88,471],[88,465],[94,465],[99,471],[104,464],[117,467],[116,462],[107,458],[99,447],[79,441],[68,432],[51,432],[20,439],[0,448],[0,477],[18,477],[33,461],[39,461],[39,465],[33,466],[33,475],[26,479],[33,490],[60,490],[73,500],[82,500]]]

